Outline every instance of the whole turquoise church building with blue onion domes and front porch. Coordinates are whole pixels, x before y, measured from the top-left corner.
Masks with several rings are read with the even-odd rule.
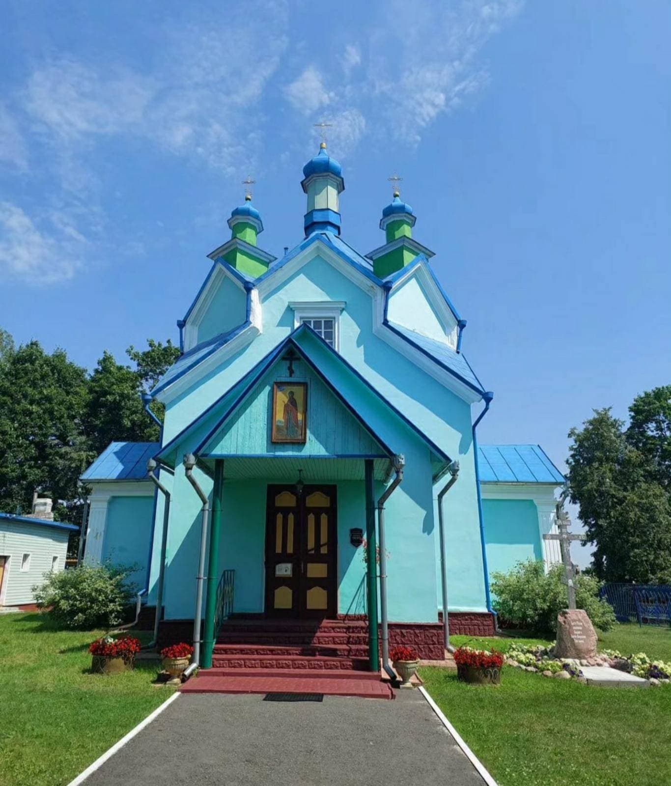
[[[362,254],[325,143],[301,186],[281,259],[251,194],[231,213],[149,397],[160,443],[112,443],[83,475],[84,559],[138,564],[159,642],[195,637],[206,668],[442,659],[447,628],[494,633],[491,571],[558,560],[563,476],[539,446],[479,448],[493,394],[398,190]]]

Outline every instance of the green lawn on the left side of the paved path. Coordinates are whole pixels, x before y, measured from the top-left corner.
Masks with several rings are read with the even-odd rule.
[[[67,784],[170,696],[156,665],[90,674],[104,631],[64,631],[39,614],[0,615],[0,784]]]

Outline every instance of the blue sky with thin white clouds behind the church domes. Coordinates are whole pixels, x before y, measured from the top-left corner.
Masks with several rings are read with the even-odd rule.
[[[671,6],[3,3],[0,324],[93,367],[176,339],[254,176],[262,248],[303,237],[334,123],[362,252],[398,170],[495,392],[481,441],[562,467],[592,407],[671,380]]]

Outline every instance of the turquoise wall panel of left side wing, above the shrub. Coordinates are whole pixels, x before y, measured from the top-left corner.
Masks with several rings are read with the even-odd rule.
[[[147,554],[152,529],[152,497],[112,497],[105,521],[102,561],[138,564],[130,580],[140,588],[147,579]]]

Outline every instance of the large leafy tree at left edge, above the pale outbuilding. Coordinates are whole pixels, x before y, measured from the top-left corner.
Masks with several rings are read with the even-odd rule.
[[[6,332],[0,347],[0,510],[29,512],[40,490],[63,518],[94,458],[82,428],[86,369],[61,349],[47,354],[37,341],[15,349]]]

